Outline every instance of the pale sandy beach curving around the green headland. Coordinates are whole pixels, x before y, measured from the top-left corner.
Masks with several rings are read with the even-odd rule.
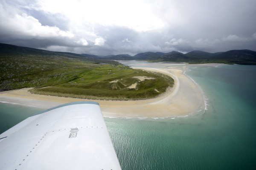
[[[154,99],[109,101],[91,100],[99,102],[105,116],[128,117],[165,117],[184,116],[204,108],[204,98],[198,86],[183,74],[186,66],[172,68],[142,68],[168,74],[175,80],[175,86],[165,94]],[[67,102],[87,101],[57,96],[30,94],[30,88],[0,92],[0,101],[33,105],[43,109],[51,108]]]

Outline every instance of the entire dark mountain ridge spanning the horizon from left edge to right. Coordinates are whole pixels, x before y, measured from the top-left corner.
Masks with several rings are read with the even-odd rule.
[[[225,64],[246,64],[256,65],[256,51],[230,50],[226,52],[208,53],[204,51],[191,51],[183,54],[177,51],[169,53],[145,52],[134,56],[129,54],[97,56],[91,54],[75,54],[68,52],[54,52],[39,50],[35,48],[20,47],[0,43],[0,56],[3,55],[41,55],[41,56],[63,56],[69,58],[86,58],[90,61],[103,62],[106,60],[146,60],[151,62],[186,62],[195,63],[225,63]],[[97,60],[100,59],[100,60]]]

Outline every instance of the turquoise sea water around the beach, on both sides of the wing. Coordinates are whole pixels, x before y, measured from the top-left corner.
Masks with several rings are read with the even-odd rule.
[[[189,70],[186,74],[208,98],[204,114],[156,120],[105,118],[123,170],[256,168],[256,66],[189,66]],[[35,109],[22,111],[9,104],[3,111],[3,105],[7,104],[0,103],[1,126],[7,120],[9,126],[15,125],[12,119],[21,121]],[[12,113],[16,107],[18,114]]]

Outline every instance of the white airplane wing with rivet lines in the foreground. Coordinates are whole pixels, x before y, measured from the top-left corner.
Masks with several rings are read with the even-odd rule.
[[[36,113],[0,135],[0,170],[121,170],[97,102]]]

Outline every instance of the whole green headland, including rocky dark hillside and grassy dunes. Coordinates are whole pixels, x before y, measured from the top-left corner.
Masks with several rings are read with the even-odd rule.
[[[128,100],[156,97],[173,84],[166,75],[111,60],[0,43],[0,91],[34,87],[35,94]]]

